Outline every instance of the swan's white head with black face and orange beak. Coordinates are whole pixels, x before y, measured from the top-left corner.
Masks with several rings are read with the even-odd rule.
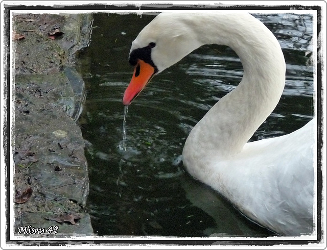
[[[123,104],[130,105],[152,77],[172,66],[202,44],[187,15],[161,13],[132,42],[129,63],[133,77],[125,90]]]

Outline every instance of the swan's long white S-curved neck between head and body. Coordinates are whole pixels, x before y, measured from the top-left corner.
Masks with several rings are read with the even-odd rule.
[[[276,107],[285,84],[282,49],[262,22],[243,14],[201,19],[192,23],[200,43],[231,47],[241,59],[244,74],[237,88],[221,98],[192,130],[183,150],[188,166],[201,159],[205,164],[204,151],[208,157],[228,157],[242,151]]]

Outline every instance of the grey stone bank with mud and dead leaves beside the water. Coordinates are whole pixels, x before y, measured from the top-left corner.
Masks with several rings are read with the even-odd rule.
[[[93,234],[85,212],[85,144],[76,124],[84,82],[74,67],[91,22],[91,14],[14,16],[15,234]],[[30,235],[31,228],[44,230]]]

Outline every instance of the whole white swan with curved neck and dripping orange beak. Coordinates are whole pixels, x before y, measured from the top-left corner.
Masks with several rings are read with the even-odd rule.
[[[285,85],[281,46],[262,22],[246,13],[168,14],[155,17],[133,41],[135,65],[123,104],[152,76],[203,44],[230,46],[244,75],[196,124],[183,164],[248,218],[278,234],[313,232],[314,122],[285,136],[247,143],[276,107]]]

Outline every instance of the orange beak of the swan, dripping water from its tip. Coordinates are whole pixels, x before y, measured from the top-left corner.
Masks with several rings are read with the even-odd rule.
[[[133,99],[145,88],[155,73],[155,69],[150,64],[138,59],[134,68],[131,82],[125,90],[123,104],[128,106]]]

